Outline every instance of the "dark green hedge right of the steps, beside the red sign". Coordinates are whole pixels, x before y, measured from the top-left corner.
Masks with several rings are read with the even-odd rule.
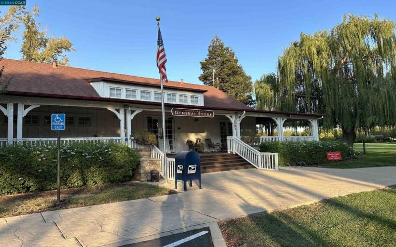
[[[279,165],[304,162],[306,165],[327,163],[326,152],[340,151],[343,159],[350,151],[340,141],[263,142],[260,152],[278,153]]]

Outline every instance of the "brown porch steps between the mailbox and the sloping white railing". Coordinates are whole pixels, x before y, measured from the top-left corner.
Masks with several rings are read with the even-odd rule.
[[[254,168],[237,154],[213,154],[201,156],[201,173]]]

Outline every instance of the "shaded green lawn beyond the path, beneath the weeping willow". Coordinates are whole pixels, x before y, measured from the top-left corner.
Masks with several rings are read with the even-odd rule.
[[[363,144],[356,143],[353,148],[363,154]],[[364,158],[330,162],[318,166],[326,168],[396,166],[396,143],[366,143],[366,156]]]

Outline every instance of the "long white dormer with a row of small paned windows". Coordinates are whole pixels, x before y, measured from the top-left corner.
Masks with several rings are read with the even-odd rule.
[[[103,98],[119,98],[136,101],[161,102],[161,87],[156,83],[123,81],[110,78],[88,79],[92,87]],[[206,90],[164,83],[165,103],[203,106]]]

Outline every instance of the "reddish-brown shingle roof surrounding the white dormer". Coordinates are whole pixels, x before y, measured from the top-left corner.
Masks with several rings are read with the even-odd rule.
[[[87,81],[94,78],[122,80],[130,83],[148,83],[153,86],[157,86],[160,83],[158,79],[152,78],[64,66],[53,68],[50,64],[5,58],[0,61],[0,65],[4,66],[3,77],[12,77],[7,91],[20,92],[22,94],[53,94],[69,96],[70,98],[74,96],[100,98],[95,89]],[[247,105],[212,86],[172,81],[166,82],[164,85],[179,89],[205,91],[203,93],[205,107],[251,110]]]

